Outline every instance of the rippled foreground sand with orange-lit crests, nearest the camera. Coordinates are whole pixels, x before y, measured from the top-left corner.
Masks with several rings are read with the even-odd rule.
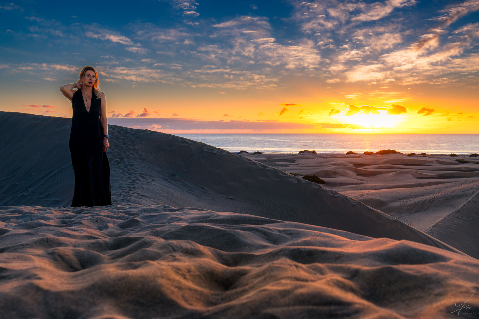
[[[0,217],[2,318],[456,318],[479,285],[468,256],[245,214],[126,204]],[[477,313],[478,298],[467,306]]]

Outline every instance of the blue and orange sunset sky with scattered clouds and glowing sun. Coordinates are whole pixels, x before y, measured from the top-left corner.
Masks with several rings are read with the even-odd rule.
[[[0,1],[0,110],[166,133],[479,133],[479,0]]]

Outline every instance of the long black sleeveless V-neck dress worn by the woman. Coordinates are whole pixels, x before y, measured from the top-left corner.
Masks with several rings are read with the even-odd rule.
[[[71,164],[75,171],[72,207],[112,204],[110,163],[103,152],[103,127],[100,123],[101,100],[91,95],[90,112],[85,108],[81,90],[71,99],[73,118],[70,132]]]

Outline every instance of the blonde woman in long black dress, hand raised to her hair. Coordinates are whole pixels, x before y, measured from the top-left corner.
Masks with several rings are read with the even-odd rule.
[[[96,70],[92,66],[85,66],[77,83],[60,88],[73,108],[69,142],[75,171],[72,207],[112,204],[110,164],[106,157],[110,146],[106,101],[98,85]]]

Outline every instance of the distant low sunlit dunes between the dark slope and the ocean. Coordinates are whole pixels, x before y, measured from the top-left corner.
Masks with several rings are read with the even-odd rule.
[[[317,175],[326,181],[324,187],[479,258],[479,205],[472,204],[479,192],[479,159],[467,158],[470,163],[461,165],[446,155],[307,153],[248,157],[286,172]]]

